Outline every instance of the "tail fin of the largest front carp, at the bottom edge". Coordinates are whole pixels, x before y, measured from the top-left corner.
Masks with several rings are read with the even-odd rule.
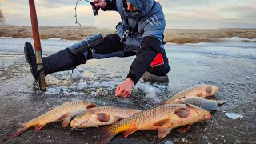
[[[113,131],[108,129],[109,126],[101,127],[98,129],[90,130],[85,134],[89,137],[97,136],[97,144],[106,144],[110,142],[112,138],[116,135]]]

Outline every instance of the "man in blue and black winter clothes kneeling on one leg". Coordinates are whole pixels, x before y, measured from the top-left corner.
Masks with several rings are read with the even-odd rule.
[[[128,57],[136,55],[126,80],[119,84],[115,95],[130,97],[133,86],[142,78],[150,82],[168,82],[170,71],[164,50],[163,33],[166,26],[162,6],[154,0],[94,0],[102,10],[117,11],[122,18],[117,34],[94,34],[73,46],[42,58],[45,74],[72,70],[92,58]],[[35,79],[37,65],[32,45],[25,43],[26,61]]]

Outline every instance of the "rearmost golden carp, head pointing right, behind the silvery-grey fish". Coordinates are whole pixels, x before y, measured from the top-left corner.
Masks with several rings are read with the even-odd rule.
[[[201,98],[206,98],[213,96],[214,94],[218,93],[218,87],[210,86],[210,85],[194,85],[182,90],[178,94],[174,94],[173,97],[166,99],[162,104],[170,104],[176,99],[186,98],[190,96],[197,96]]]

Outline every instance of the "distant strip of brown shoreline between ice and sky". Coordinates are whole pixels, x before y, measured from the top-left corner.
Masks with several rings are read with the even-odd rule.
[[[82,40],[93,34],[114,34],[113,29],[98,29],[89,26],[39,26],[42,39],[61,38],[67,40]],[[31,26],[0,26],[0,37],[32,38]],[[165,42],[177,44],[215,42],[218,38],[256,38],[256,29],[227,28],[213,30],[166,29]]]

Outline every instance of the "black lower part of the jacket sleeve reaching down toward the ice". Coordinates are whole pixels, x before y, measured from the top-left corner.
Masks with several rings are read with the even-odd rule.
[[[150,68],[150,63],[158,54],[160,45],[161,41],[158,38],[146,36],[142,39],[141,48],[138,50],[127,75],[127,78],[134,81],[134,85],[142,78],[145,71]]]

